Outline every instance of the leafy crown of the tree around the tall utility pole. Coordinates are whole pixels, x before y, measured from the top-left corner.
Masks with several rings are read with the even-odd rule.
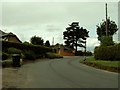
[[[117,28],[116,23],[110,20],[110,18],[108,18],[107,19],[108,36],[113,36],[117,30],[118,28]],[[100,25],[97,25],[97,35],[98,35],[98,40],[100,41],[101,41],[102,36],[106,36],[106,21],[103,21],[100,23]]]

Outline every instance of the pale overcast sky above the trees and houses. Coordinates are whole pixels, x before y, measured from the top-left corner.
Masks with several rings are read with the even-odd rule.
[[[34,35],[52,44],[64,44],[63,32],[68,24],[78,21],[79,25],[89,31],[87,50],[99,45],[96,25],[105,19],[105,1],[102,2],[38,2],[38,0],[24,2],[21,0],[2,1],[2,30],[13,32],[20,40],[30,41]],[[65,2],[66,1],[66,2]],[[108,0],[107,0],[108,1]],[[113,0],[114,1],[114,0]],[[118,0],[108,2],[108,16],[118,25]],[[114,38],[117,41],[117,35]]]

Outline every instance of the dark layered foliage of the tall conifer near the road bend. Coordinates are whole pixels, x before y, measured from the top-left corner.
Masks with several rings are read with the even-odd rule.
[[[86,43],[86,39],[89,37],[88,33],[89,31],[79,26],[79,22],[73,22],[66,28],[66,31],[63,32],[66,46],[76,51],[78,46],[85,48],[83,44]]]

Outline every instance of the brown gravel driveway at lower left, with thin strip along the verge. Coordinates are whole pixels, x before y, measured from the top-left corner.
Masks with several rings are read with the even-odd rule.
[[[30,63],[37,63],[37,62],[41,62],[44,61],[43,60],[36,60],[36,61],[28,61],[25,62],[26,64],[30,64]],[[24,66],[24,65],[23,65]],[[25,80],[27,79],[27,74],[26,71],[24,69],[22,69],[22,67],[18,67],[18,68],[13,68],[13,67],[9,67],[9,68],[2,68],[1,70],[1,77],[0,77],[0,87],[2,88],[17,88],[19,85],[23,84],[25,82]]]

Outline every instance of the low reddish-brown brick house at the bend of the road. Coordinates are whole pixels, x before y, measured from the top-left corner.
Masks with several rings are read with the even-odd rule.
[[[74,56],[75,55],[75,50],[64,46],[64,45],[55,45],[53,47],[53,50],[55,53],[58,53],[62,56]]]

